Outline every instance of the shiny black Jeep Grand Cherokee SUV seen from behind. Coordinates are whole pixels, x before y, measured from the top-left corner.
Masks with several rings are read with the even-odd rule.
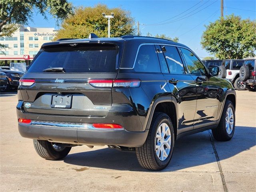
[[[91,35],[95,37],[95,35]],[[48,160],[71,147],[108,145],[136,152],[149,170],[165,168],[174,141],[212,129],[228,141],[236,93],[187,46],[122,36],[49,42],[18,88],[18,129]]]

